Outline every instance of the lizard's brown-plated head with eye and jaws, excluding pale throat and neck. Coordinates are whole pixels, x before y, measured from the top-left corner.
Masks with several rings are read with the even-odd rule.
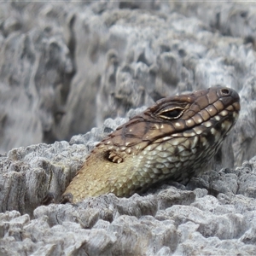
[[[213,137],[223,140],[236,123],[239,101],[236,90],[222,86],[166,97],[119,126],[102,143],[137,152],[173,137],[204,134],[209,142]]]

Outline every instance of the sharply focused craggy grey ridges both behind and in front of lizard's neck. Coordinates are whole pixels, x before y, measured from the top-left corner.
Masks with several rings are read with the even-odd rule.
[[[111,124],[114,128],[110,119],[106,123],[105,128]],[[99,136],[99,131],[104,129],[93,129],[86,139],[81,136],[78,141],[87,141],[90,145]],[[37,207],[40,203],[37,188],[40,187],[41,194],[46,195],[50,191],[61,195],[61,188],[67,185],[68,177],[74,175],[79,163],[84,160],[83,154],[88,153],[88,147],[81,143],[73,143],[72,146],[65,142],[39,144],[11,150],[8,156],[2,157],[5,173],[13,173],[12,176],[3,175],[4,183],[15,181],[15,188],[9,192],[10,195],[2,190],[5,206],[9,210],[18,209],[31,215],[5,212],[6,209],[2,208],[2,254],[253,254],[256,249],[253,238],[256,235],[256,199],[253,193],[249,194],[252,189],[248,188],[253,187],[255,158],[236,169],[206,172],[198,177],[198,187],[207,184],[207,189],[191,191],[183,185],[172,183],[181,189],[163,185],[162,188],[150,189],[148,195],[117,198],[109,194],[86,199],[77,205],[50,204],[48,207]],[[35,176],[33,172],[38,170],[38,166],[40,175]],[[61,170],[58,169],[60,166]],[[70,171],[72,166],[75,169],[73,174]],[[45,178],[49,173],[50,180]],[[20,174],[25,177],[19,179],[17,174],[18,177]],[[44,179],[34,183],[34,187],[29,183],[42,176]],[[237,184],[240,184],[239,189]],[[216,198],[207,193],[218,196]],[[22,202],[22,198],[26,200]],[[200,252],[198,244],[203,248]]]

